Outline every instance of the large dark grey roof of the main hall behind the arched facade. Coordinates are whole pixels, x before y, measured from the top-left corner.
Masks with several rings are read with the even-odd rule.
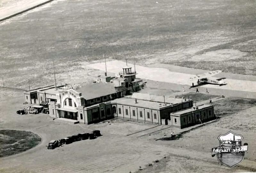
[[[115,86],[113,84],[103,82],[83,86],[76,91],[81,93],[86,100],[116,93]]]

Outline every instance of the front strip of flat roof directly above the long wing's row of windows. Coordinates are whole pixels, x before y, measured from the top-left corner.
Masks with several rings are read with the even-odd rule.
[[[143,108],[150,108],[150,109],[157,109],[157,110],[171,106],[171,104],[164,105],[164,103],[157,103],[157,102],[152,102],[147,100],[137,100],[137,103],[135,103],[134,98],[128,98],[128,97],[115,99],[111,102],[117,103],[117,104],[134,106],[134,107],[143,107]]]

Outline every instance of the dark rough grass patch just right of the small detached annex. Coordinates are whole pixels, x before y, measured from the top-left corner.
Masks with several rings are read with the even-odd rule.
[[[256,99],[230,97],[213,103],[216,116],[223,117],[256,105]]]

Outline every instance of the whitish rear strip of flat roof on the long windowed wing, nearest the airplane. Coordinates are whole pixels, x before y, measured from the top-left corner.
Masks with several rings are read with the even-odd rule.
[[[149,94],[144,94],[144,93],[133,93],[133,95],[130,96],[131,98],[136,98],[136,99],[142,99],[142,100],[150,100],[154,102],[162,102],[164,103],[164,98],[163,96],[157,96],[157,95],[149,95]],[[165,97],[165,103],[169,104],[178,104],[186,101],[191,101],[192,99],[187,99],[184,98],[172,98],[172,97]]]

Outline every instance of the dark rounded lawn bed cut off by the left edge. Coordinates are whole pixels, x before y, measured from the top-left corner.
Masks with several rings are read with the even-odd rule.
[[[0,158],[18,154],[41,142],[35,133],[20,130],[0,130]]]

